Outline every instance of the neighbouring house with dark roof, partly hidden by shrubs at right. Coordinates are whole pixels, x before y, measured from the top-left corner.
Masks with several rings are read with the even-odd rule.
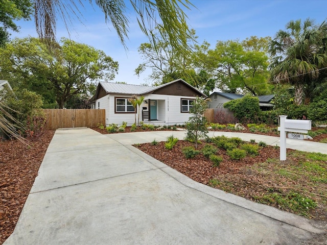
[[[223,93],[223,92],[213,92],[209,96],[208,107],[209,108],[224,108],[224,104],[226,102],[241,99],[243,94],[235,94],[235,93]],[[271,110],[273,105],[270,104],[273,99],[274,94],[269,95],[260,95],[259,98],[259,106],[263,111]]]

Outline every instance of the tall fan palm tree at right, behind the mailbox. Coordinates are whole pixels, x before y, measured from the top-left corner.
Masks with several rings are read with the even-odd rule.
[[[327,66],[327,23],[314,25],[314,20],[291,20],[286,31],[279,30],[270,43],[269,52],[274,58],[270,65],[271,77],[277,83],[294,86],[294,103],[302,104],[306,89],[321,79],[320,69]],[[316,86],[316,85],[315,85]],[[310,98],[309,98],[310,100]],[[308,101],[308,98],[307,98]]]

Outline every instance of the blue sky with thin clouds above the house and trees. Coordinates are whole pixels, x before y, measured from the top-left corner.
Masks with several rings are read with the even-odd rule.
[[[82,23],[73,19],[70,26],[71,39],[86,43],[104,51],[107,55],[119,62],[119,74],[114,82],[127,82],[129,84],[150,83],[145,73],[140,78],[134,75],[134,69],[142,62],[137,48],[148,39],[141,32],[136,17],[131,8],[127,11],[130,19],[129,39],[126,40],[128,51],[120,43],[110,23],[106,24],[104,14],[85,1]],[[126,3],[128,3],[127,1]],[[273,37],[290,20],[306,19],[308,17],[321,23],[327,17],[327,1],[237,1],[237,0],[191,0],[196,8],[187,10],[188,24],[196,30],[199,43],[204,40],[211,43],[214,48],[217,40],[243,40],[250,36]],[[18,21],[21,27],[19,33],[13,33],[11,38],[37,36],[33,20]],[[57,38],[68,37],[67,30],[61,19],[57,23]]]

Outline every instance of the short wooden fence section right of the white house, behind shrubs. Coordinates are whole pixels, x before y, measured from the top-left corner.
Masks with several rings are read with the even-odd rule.
[[[208,122],[218,124],[235,124],[237,121],[233,112],[227,108],[208,108],[205,110],[204,116]]]

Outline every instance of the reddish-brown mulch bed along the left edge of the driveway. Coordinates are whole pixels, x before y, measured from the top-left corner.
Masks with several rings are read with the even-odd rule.
[[[54,132],[46,131],[29,145],[0,141],[0,244],[16,226]]]

